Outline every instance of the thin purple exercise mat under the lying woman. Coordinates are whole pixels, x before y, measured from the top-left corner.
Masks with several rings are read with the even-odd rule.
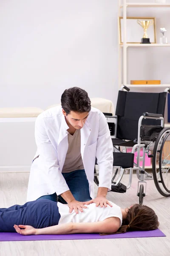
[[[35,241],[35,240],[77,240],[77,239],[114,239],[165,236],[161,230],[133,231],[124,234],[100,236],[99,234],[69,234],[69,235],[37,235],[23,236],[18,233],[0,233],[0,241]]]

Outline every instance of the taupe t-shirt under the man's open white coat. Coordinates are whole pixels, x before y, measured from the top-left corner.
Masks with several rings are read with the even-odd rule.
[[[76,130],[73,135],[68,133],[68,151],[62,172],[73,172],[84,169],[81,155],[81,134]]]

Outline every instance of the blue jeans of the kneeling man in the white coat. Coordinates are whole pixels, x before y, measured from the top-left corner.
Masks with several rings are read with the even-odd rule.
[[[85,170],[76,170],[74,172],[62,173],[65,181],[77,201],[85,202],[90,201],[92,198],[89,193],[88,179],[85,174]],[[43,195],[39,199],[48,199],[57,202],[57,194]],[[58,201],[62,204],[67,204],[67,202],[62,198],[61,195],[58,196]]]

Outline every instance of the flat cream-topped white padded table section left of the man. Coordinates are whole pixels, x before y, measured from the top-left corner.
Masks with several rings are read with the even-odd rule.
[[[0,108],[0,172],[29,172],[37,150],[34,126],[41,108]]]

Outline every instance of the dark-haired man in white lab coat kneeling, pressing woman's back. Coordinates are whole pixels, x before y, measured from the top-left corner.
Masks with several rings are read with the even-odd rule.
[[[58,200],[70,212],[82,212],[85,202],[110,205],[113,145],[104,114],[91,107],[88,93],[69,88],[61,106],[41,113],[35,122],[37,152],[31,165],[27,201]],[[94,165],[99,165],[99,188],[94,198]],[[111,206],[111,205],[110,205]]]

